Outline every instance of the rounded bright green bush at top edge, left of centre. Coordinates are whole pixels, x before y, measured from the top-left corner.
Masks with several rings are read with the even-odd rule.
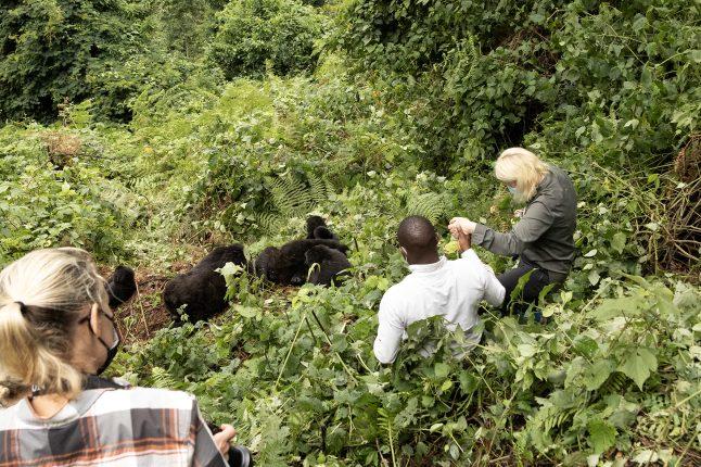
[[[323,17],[296,0],[234,0],[217,15],[209,60],[226,77],[288,75],[313,68]]]

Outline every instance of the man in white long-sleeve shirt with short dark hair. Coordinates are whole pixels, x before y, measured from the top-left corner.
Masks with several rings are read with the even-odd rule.
[[[399,224],[397,240],[411,274],[386,291],[380,302],[374,355],[381,363],[392,363],[406,328],[415,321],[443,316],[446,328],[457,326],[466,332],[469,348],[480,342],[482,331],[477,307],[482,300],[498,306],[505,289],[494,272],[480,261],[470,248],[470,238],[458,237],[461,258],[448,261],[438,256],[438,236],[431,222],[410,216]]]

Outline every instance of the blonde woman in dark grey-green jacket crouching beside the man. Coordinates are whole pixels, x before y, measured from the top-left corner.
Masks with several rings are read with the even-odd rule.
[[[473,244],[493,253],[519,256],[517,267],[497,277],[506,289],[502,313],[507,313],[511,292],[523,275],[531,273],[521,304],[535,302],[546,286],[559,286],[566,279],[575,254],[577,200],[568,174],[523,148],[504,151],[494,172],[514,200],[525,203],[513,229],[502,234],[466,217],[454,217],[448,228],[454,237],[458,231],[472,235]]]

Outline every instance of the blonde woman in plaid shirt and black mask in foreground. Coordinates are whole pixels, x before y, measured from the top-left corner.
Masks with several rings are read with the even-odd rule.
[[[233,428],[213,436],[192,395],[98,377],[118,345],[87,252],[39,250],[0,272],[1,466],[228,465]]]

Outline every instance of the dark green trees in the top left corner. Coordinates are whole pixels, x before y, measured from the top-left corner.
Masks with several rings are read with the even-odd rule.
[[[0,121],[49,121],[90,97],[88,75],[141,43],[140,15],[126,0],[3,1]]]

